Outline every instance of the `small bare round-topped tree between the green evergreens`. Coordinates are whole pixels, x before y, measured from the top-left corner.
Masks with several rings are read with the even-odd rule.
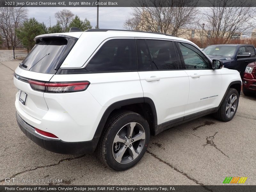
[[[73,20],[74,14],[68,9],[63,9],[56,12],[54,16],[57,22],[62,26],[63,32],[66,32],[69,23]]]

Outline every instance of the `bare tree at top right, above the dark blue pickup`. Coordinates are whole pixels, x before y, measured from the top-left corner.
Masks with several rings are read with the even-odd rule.
[[[253,21],[253,11],[251,2],[214,0],[211,1],[212,7],[204,11],[205,29],[209,31],[210,38],[215,43],[218,39],[228,43],[235,36],[249,35]],[[254,21],[255,23],[255,21]]]

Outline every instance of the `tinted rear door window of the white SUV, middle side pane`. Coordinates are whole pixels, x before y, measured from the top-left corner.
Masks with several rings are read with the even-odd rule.
[[[172,41],[146,40],[152,67],[158,70],[179,69]]]

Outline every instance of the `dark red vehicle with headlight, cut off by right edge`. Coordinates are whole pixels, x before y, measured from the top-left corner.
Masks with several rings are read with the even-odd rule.
[[[247,96],[255,95],[256,93],[256,62],[247,65],[243,78],[243,93]]]

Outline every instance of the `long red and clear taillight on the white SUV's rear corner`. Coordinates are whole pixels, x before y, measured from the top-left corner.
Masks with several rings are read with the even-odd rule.
[[[40,82],[35,80],[28,80],[31,88],[36,91],[50,92],[50,93],[69,93],[84,91],[89,86],[89,81],[76,82]]]

